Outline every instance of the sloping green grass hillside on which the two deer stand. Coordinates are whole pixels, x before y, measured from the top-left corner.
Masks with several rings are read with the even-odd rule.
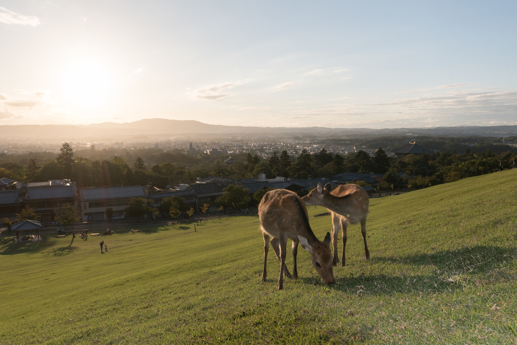
[[[0,343],[515,343],[516,181],[507,170],[371,199],[371,260],[349,226],[347,265],[330,287],[302,249],[300,279],[277,291],[271,251],[262,283],[254,215],[198,232],[0,238]],[[330,217],[308,209],[322,239]]]

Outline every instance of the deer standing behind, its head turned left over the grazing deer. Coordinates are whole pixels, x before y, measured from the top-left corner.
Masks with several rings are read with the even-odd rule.
[[[332,191],[330,183],[323,185],[318,183],[317,188],[302,198],[307,205],[319,205],[327,207],[332,215],[332,247],[334,249],[334,266],[338,258],[338,231],[343,232],[343,253],[341,266],[345,265],[346,227],[348,223],[361,223],[361,234],[364,240],[364,254],[366,260],[370,259],[370,252],[366,244],[366,217],[368,216],[368,194],[358,185],[340,185]]]

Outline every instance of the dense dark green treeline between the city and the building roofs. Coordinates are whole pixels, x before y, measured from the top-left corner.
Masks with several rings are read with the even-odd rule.
[[[515,153],[510,150],[495,153],[490,149],[470,152],[466,149],[464,154],[445,151],[390,158],[382,148],[378,148],[373,157],[364,151],[341,156],[325,149],[311,155],[304,149],[297,157],[283,151],[280,155],[273,153],[267,160],[251,152],[232,155],[236,161],[226,164],[222,160],[226,157],[217,159],[204,153],[187,156],[177,149],[168,152],[155,148],[117,151],[92,147],[74,152],[68,143],[64,143],[58,155],[23,154],[18,159],[15,156],[18,155],[9,155],[9,161],[0,160],[0,176],[25,183],[69,178],[76,181],[79,188],[147,184],[165,188],[171,184],[192,183],[197,177],[209,175],[256,178],[264,173],[268,178],[305,179],[330,178],[342,172],[374,172],[386,174],[379,188],[392,189],[403,185],[427,187],[490,173],[498,169],[499,160],[503,161],[504,168],[510,168]],[[4,156],[0,155],[0,159]]]

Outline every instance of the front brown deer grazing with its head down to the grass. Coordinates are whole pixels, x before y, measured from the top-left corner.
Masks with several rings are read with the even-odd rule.
[[[322,276],[326,284],[336,282],[332,274],[332,253],[330,252],[330,233],[327,232],[323,242],[319,241],[309,225],[307,208],[300,197],[285,189],[275,189],[264,194],[258,205],[258,217],[260,217],[261,230],[264,235],[264,272],[262,281],[267,278],[267,252],[269,250],[269,237],[275,254],[280,260],[280,277],[278,278],[278,290],[283,289],[283,274],[292,278],[285,265],[285,250],[287,238],[293,241],[293,276],[298,279],[296,256],[298,243],[303,249],[311,253],[312,265]]]

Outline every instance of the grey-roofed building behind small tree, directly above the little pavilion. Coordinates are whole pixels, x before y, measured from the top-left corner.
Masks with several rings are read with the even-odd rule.
[[[25,209],[34,208],[41,222],[54,221],[54,209],[65,203],[79,207],[79,195],[75,182],[69,179],[49,179],[47,182],[27,184]]]

